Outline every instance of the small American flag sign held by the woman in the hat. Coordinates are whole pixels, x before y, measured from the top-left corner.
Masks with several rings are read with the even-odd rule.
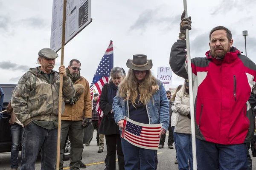
[[[144,124],[135,122],[125,116],[122,138],[134,146],[144,149],[157,150],[160,142],[159,133],[162,124]]]

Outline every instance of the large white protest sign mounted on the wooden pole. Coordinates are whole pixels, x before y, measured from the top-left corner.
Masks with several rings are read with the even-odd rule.
[[[56,52],[61,49],[63,2],[64,0],[53,0],[52,3],[50,48]],[[65,45],[92,22],[90,7],[90,0],[67,0]]]

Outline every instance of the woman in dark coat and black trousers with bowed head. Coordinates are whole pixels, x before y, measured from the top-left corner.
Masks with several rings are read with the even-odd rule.
[[[107,170],[116,169],[116,150],[118,157],[119,170],[125,169],[125,160],[122,153],[121,139],[119,127],[115,123],[112,110],[113,99],[116,96],[117,86],[124,78],[122,68],[112,68],[110,72],[111,81],[103,85],[102,93],[99,99],[99,107],[103,111],[104,116],[99,126],[98,132],[105,135],[107,144]]]

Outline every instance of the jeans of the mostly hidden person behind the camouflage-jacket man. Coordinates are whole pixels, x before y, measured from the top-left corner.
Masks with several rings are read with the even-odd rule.
[[[17,123],[12,124],[11,134],[12,134],[11,168],[18,169],[19,167],[18,157],[19,157],[19,150],[20,150],[20,142],[22,144],[23,127]]]

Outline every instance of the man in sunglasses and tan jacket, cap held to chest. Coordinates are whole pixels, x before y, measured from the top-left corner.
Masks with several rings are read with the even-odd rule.
[[[81,62],[72,59],[67,67],[67,76],[70,77],[76,88],[76,94],[72,99],[65,101],[65,111],[61,115],[61,148],[64,147],[65,139],[69,135],[71,143],[70,170],[86,168],[81,162],[84,149],[84,128],[90,124],[92,117],[92,100],[90,86],[84,77],[80,75]],[[64,150],[60,150],[60,170],[63,170]],[[80,166],[81,164],[81,166]]]

